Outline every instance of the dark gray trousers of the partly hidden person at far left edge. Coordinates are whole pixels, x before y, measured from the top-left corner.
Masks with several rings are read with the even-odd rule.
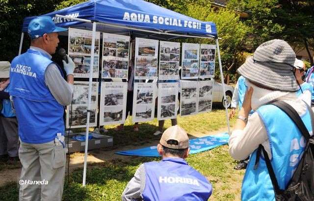
[[[10,157],[18,156],[19,135],[16,118],[0,116],[0,155],[8,154]]]

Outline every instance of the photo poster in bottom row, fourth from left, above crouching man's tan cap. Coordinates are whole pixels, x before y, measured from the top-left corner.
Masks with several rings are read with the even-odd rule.
[[[178,82],[158,83],[158,120],[177,118],[178,88]]]

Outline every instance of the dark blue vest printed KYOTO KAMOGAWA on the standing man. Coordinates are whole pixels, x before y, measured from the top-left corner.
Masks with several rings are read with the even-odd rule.
[[[53,98],[45,83],[45,71],[51,63],[47,54],[32,49],[11,63],[9,90],[22,142],[46,143],[54,140],[57,133],[64,134],[63,106]]]

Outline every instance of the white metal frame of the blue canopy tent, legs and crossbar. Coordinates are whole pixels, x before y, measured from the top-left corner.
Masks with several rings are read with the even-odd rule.
[[[84,20],[80,18],[73,18],[73,17],[68,17],[68,16],[63,16],[63,15],[55,15],[56,17],[62,17],[62,18],[67,18],[70,20],[77,20],[81,22],[87,22],[87,23],[92,23],[93,24],[93,35],[92,35],[92,47],[91,47],[91,59],[90,59],[90,70],[89,70],[89,83],[88,83],[88,107],[87,107],[87,122],[86,122],[86,133],[85,133],[85,153],[84,153],[84,170],[83,170],[83,186],[86,185],[86,168],[87,168],[87,151],[88,151],[88,133],[89,133],[89,120],[90,120],[90,105],[91,105],[91,91],[92,91],[92,81],[93,81],[93,69],[94,69],[94,49],[95,49],[95,37],[96,37],[96,25],[98,24],[103,24],[103,25],[108,25],[108,26],[113,26],[113,27],[119,27],[119,28],[126,28],[129,30],[138,30],[138,31],[143,31],[143,32],[151,32],[151,33],[156,33],[156,34],[163,34],[163,35],[172,35],[172,36],[184,36],[184,37],[190,37],[190,38],[207,38],[207,39],[214,39],[215,37],[212,35],[208,35],[208,37],[204,36],[193,36],[193,35],[181,35],[181,34],[174,34],[174,33],[168,33],[168,32],[159,32],[159,31],[152,31],[152,30],[145,30],[145,29],[140,29],[140,28],[133,28],[133,27],[127,27],[127,26],[119,26],[119,25],[110,25],[106,23],[101,23],[101,22],[92,22],[90,20]],[[20,51],[22,49],[22,43],[23,43],[23,37],[24,37],[24,32],[22,32],[21,36],[21,43],[20,43]],[[219,43],[218,39],[216,38],[216,47],[217,47],[217,54],[218,54],[218,62],[219,62],[219,69],[220,69],[220,76],[221,76],[221,83],[222,83],[222,88],[224,90],[224,101],[226,101],[226,92],[225,92],[225,86],[224,86],[224,77],[223,77],[223,72],[222,72],[222,65],[221,65],[221,58],[220,58],[220,50],[219,50]],[[20,54],[21,52],[19,52]],[[225,107],[226,108],[226,107]],[[228,119],[228,108],[226,108],[226,119],[227,119],[227,125],[228,125],[228,133],[230,135],[230,125],[229,125],[229,119]]]

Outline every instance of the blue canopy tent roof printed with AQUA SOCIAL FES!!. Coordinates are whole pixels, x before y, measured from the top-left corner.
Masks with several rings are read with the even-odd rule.
[[[217,37],[214,23],[202,22],[144,0],[89,0],[43,15],[51,16],[57,26],[91,30],[91,23],[55,17],[56,14],[99,22],[96,30],[107,33],[129,35],[128,27],[130,27],[144,29],[144,31],[131,30],[132,34],[138,37],[148,36],[157,39],[189,36]],[[29,22],[35,17],[37,16],[24,19],[23,32],[27,32]],[[145,30],[157,31],[158,33],[147,35]],[[182,36],[174,37],[167,33]]]

